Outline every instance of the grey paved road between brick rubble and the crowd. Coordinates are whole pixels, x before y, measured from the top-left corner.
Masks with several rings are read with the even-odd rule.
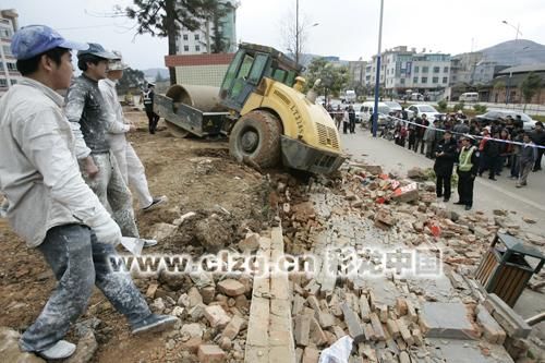
[[[415,154],[407,148],[402,148],[393,142],[384,138],[373,138],[368,131],[356,128],[356,134],[341,134],[344,150],[353,155],[354,159],[366,160],[371,164],[383,166],[387,171],[396,171],[401,177],[407,174],[407,170],[413,167],[431,168],[433,160],[421,154]],[[486,176],[486,174],[485,174]],[[529,177],[529,184],[525,187],[514,187],[514,181],[507,178],[507,169],[497,181],[487,178],[477,178],[474,191],[474,209],[492,214],[494,209],[508,209],[516,211],[513,219],[520,222],[521,227],[533,233],[543,234],[545,222],[545,172],[532,172]],[[456,192],[449,205],[456,210],[463,211],[463,208],[452,203],[457,201]],[[536,223],[529,225],[521,220],[522,217],[530,217]]]

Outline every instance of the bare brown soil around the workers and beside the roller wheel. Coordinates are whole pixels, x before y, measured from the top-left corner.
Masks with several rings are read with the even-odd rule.
[[[196,213],[196,217],[182,223],[173,237],[150,253],[198,256],[205,251],[199,244],[203,238],[229,245],[239,242],[247,230],[258,232],[267,227],[269,182],[231,159],[226,141],[175,138],[161,126],[162,121],[159,131],[150,135],[143,112],[125,110],[125,117],[138,125],[129,138],[146,168],[149,190],[154,195],[165,194],[169,198],[167,206],[149,213],[140,211],[134,201],[141,235],[149,237],[155,223],[171,223],[185,213]],[[201,235],[207,231],[211,234]],[[39,252],[27,249],[4,220],[0,220],[0,326],[23,331],[39,314],[56,281]],[[135,282],[146,293],[149,283],[157,281],[136,279]],[[191,283],[181,283],[173,291],[172,287],[161,285],[160,289],[175,298],[189,287]],[[178,349],[166,350],[166,334],[132,337],[123,316],[98,290],[80,320],[90,317],[101,320],[95,331],[99,348],[94,362],[187,361],[187,355],[183,359],[177,355]],[[77,341],[73,331],[69,339]]]

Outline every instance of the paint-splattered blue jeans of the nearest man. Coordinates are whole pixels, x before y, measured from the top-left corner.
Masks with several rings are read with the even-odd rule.
[[[113,245],[98,242],[88,227],[53,227],[37,249],[58,285],[36,322],[21,337],[23,351],[41,351],[61,340],[85,312],[95,285],[131,325],[149,316],[149,307],[131,275],[126,268],[119,268]],[[110,266],[111,258],[116,258],[116,269]]]

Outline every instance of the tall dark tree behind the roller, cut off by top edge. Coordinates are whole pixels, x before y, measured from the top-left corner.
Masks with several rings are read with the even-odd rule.
[[[137,34],[168,37],[168,53],[175,55],[175,38],[182,27],[190,32],[201,27],[202,22],[217,7],[218,0],[133,0],[125,8],[130,19],[137,21]],[[175,83],[175,70],[169,68],[170,83]]]

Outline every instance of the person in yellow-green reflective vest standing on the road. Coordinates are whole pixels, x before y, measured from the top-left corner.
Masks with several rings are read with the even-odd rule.
[[[458,157],[458,196],[460,199],[455,203],[464,205],[465,210],[473,206],[473,183],[479,170],[479,150],[472,145],[473,137],[463,135],[461,137],[462,148]]]

